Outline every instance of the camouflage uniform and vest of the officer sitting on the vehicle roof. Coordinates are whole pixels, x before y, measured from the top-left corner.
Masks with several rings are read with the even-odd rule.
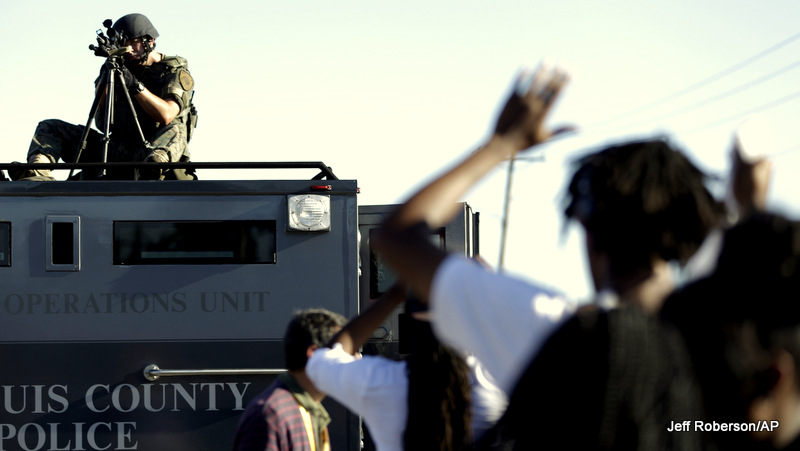
[[[167,125],[156,122],[131,98],[142,133],[151,148],[147,149],[134,123],[134,116],[125,98],[125,85],[115,83],[114,120],[111,126],[111,140],[108,145],[107,161],[139,162],[148,160],[154,152],[162,150],[169,155],[171,162],[189,161],[189,133],[191,132],[193,107],[191,98],[194,80],[189,74],[186,59],[180,56],[163,56],[160,62],[150,66],[129,67],[130,71],[153,94],[165,100],[174,100],[180,107],[180,113]],[[95,85],[105,80],[105,73],[95,81]],[[105,124],[105,109],[98,108],[95,123],[101,129]],[[37,154],[44,154],[52,162],[59,159],[74,162],[81,144],[84,126],[74,125],[58,119],[48,119],[36,127],[28,150],[28,161],[32,162]],[[86,148],[81,152],[81,162],[103,161],[103,135],[90,129]],[[162,153],[163,155],[163,153]],[[158,161],[158,160],[156,160]],[[86,175],[84,178],[92,178]],[[176,171],[175,178],[185,178],[184,171]],[[133,172],[109,173],[109,178],[131,179]],[[189,177],[194,178],[194,177]]]

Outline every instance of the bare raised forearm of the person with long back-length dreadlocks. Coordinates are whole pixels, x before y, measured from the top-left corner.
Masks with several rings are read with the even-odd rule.
[[[393,286],[372,305],[351,319],[342,330],[331,338],[328,345],[333,347],[336,343],[340,343],[345,352],[355,354],[369,340],[372,332],[380,327],[381,323],[392,314],[395,307],[404,300],[405,289],[399,284]]]

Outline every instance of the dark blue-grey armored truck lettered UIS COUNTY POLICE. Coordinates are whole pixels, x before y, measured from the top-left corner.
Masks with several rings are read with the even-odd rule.
[[[192,166],[319,174],[0,177],[0,451],[230,449],[283,371],[292,313],[353,317],[391,283],[369,235],[392,207],[359,206],[355,180],[322,163]],[[463,205],[433,239],[472,254],[476,227]],[[401,356],[398,317],[376,352]],[[334,449],[369,447],[356,415],[324,404]]]

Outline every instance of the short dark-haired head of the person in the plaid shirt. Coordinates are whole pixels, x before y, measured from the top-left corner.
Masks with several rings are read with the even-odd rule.
[[[308,357],[315,349],[327,345],[347,319],[325,309],[308,309],[296,312],[283,336],[286,368],[300,371],[306,367]]]

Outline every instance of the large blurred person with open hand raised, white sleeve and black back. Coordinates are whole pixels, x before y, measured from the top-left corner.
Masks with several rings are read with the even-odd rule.
[[[568,74],[559,67],[542,67],[531,82],[524,82],[526,78],[519,78],[490,138],[399,206],[372,244],[430,304],[439,338],[474,353],[510,394],[506,415],[482,448],[574,444],[589,449],[699,449],[699,434],[684,442],[662,432],[670,415],[697,410],[697,397],[691,395],[694,383],[686,359],[680,358],[682,346],[648,316],[674,288],[669,262],[685,263],[722,213],[704,185],[705,175],[680,151],[654,139],[609,146],[578,161],[565,214],[583,225],[597,291],[593,305],[602,307],[599,312],[575,316],[574,304],[553,293],[447,255],[426,238],[430,228],[447,223],[459,198],[499,163],[570,129],[551,131],[544,125]],[[632,311],[616,311],[618,307]],[[599,318],[584,325],[585,315]],[[594,339],[597,334],[606,339]],[[619,344],[620,334],[631,339]],[[594,343],[600,361],[576,364],[588,343]],[[649,363],[609,363],[627,345],[633,345],[636,355],[648,356]],[[540,351],[543,355],[537,358]],[[644,370],[658,365],[664,371]],[[580,368],[599,385],[582,383],[580,372],[570,372]],[[675,377],[664,378],[666,374]],[[552,384],[540,383],[545,380]],[[627,382],[620,385],[623,380]],[[596,390],[587,391],[589,386]],[[654,395],[637,396],[630,391],[635,387],[649,387]],[[622,392],[625,396],[617,398]],[[617,401],[618,416],[588,415],[584,424],[573,424],[568,416],[556,415],[573,409],[596,412],[606,399]],[[538,422],[530,421],[532,411]]]

